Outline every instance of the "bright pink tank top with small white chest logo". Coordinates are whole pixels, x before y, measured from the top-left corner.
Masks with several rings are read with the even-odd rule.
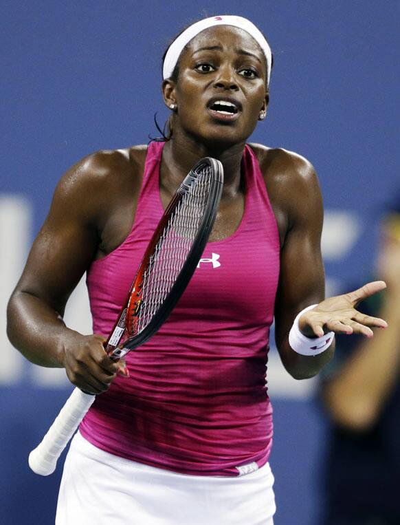
[[[135,221],[126,240],[87,275],[93,332],[107,336],[162,216],[164,143],[148,146]],[[269,328],[279,275],[278,228],[263,175],[245,147],[245,211],[233,235],[209,242],[175,310],[128,354],[80,425],[100,449],[192,475],[238,475],[269,458]]]

